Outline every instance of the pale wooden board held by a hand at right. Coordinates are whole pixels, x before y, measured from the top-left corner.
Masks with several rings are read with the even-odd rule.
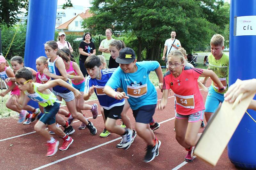
[[[224,101],[205,128],[194,155],[215,166],[254,96],[243,99],[234,109],[233,103]]]

